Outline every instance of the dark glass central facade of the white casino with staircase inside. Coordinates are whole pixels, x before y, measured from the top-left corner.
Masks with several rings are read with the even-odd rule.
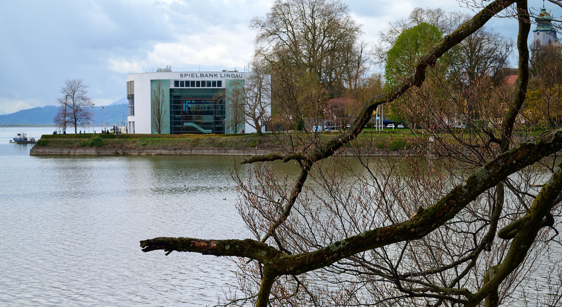
[[[199,87],[205,81],[191,82],[200,83]],[[225,116],[223,89],[170,88],[171,134],[222,134],[225,133]]]

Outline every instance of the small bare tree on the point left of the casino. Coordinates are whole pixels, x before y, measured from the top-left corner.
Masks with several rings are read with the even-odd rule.
[[[87,96],[88,85],[82,79],[67,79],[61,87],[64,97],[57,98],[58,112],[53,120],[57,127],[66,130],[67,126],[74,126],[74,133],[78,133],[78,127],[85,127],[92,120],[92,100]]]

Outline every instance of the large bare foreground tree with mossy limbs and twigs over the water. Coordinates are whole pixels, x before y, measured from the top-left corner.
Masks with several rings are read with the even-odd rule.
[[[246,170],[235,167],[237,209],[255,238],[158,237],[140,241],[143,251],[245,258],[238,262],[242,297],[227,305],[510,303],[540,265],[539,255],[559,244],[555,228],[562,216],[562,164],[556,161],[562,129],[533,136],[517,120],[529,80],[527,5],[496,0],[482,7],[420,56],[411,75],[366,100],[345,132],[327,139],[284,133],[278,137],[284,151],[250,157],[242,162],[253,164]],[[454,89],[447,75],[432,68],[437,58],[504,10],[519,24],[518,81],[495,87],[482,77],[470,89]],[[326,100],[318,84],[280,72],[286,95],[280,99],[293,108],[284,118],[321,118]],[[362,129],[378,106],[406,92],[418,99],[406,105],[405,116],[421,127],[406,142],[426,159],[406,150],[398,151],[404,159],[373,157],[373,151],[384,155],[379,142],[398,142]],[[304,100],[306,94],[312,99]],[[472,105],[487,120],[466,118],[466,129],[433,129],[452,113],[452,98],[459,109],[454,114]],[[343,148],[356,162],[338,156]],[[551,155],[555,159],[546,159]],[[270,164],[276,160],[294,161],[297,172],[279,175]],[[539,182],[542,188],[533,192]]]

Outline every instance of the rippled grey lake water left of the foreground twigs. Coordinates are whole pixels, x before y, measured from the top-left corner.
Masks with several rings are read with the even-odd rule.
[[[35,157],[20,130],[54,128],[0,128],[0,306],[204,306],[236,283],[228,259],[138,243],[252,237],[232,157]]]

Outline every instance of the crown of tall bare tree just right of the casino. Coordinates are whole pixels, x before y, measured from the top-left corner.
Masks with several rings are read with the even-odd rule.
[[[303,70],[328,93],[344,87],[350,73],[342,67],[362,62],[360,27],[338,0],[277,0],[265,17],[255,17],[258,53],[269,62]],[[356,47],[359,44],[359,47]]]

